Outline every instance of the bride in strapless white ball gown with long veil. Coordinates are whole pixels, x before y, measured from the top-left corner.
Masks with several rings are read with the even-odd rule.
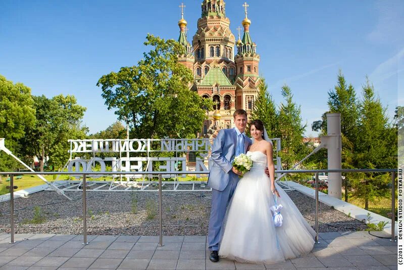
[[[275,183],[272,144],[265,138],[268,135],[262,121],[252,121],[250,132],[254,143],[247,155],[253,165],[240,179],[231,200],[219,256],[270,264],[307,254],[313,249],[315,231]],[[275,227],[270,210],[275,204],[283,206],[280,227]]]

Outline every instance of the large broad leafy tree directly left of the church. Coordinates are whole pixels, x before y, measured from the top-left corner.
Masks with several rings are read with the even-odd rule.
[[[130,120],[135,138],[194,137],[206,116],[204,106],[211,109],[212,102],[190,91],[193,74],[177,57],[184,47],[150,34],[144,45],[151,50],[137,66],[98,80],[108,109],[115,108],[119,120]]]

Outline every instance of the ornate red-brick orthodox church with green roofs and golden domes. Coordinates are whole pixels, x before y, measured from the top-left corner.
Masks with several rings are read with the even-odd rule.
[[[178,60],[193,72],[191,89],[215,103],[214,110],[207,112],[201,129],[202,136],[209,138],[217,129],[234,126],[235,110],[244,109],[248,115],[251,113],[259,92],[260,56],[249,33],[251,21],[247,17],[247,3],[243,5],[245,18],[241,22],[243,28],[237,29],[236,41],[230,30],[230,19],[226,17],[226,3],[223,0],[204,0],[192,45],[187,40],[184,7],[183,4],[180,6],[182,18],[178,22],[178,42],[185,47],[186,54],[180,55]],[[244,33],[240,38],[242,29]]]

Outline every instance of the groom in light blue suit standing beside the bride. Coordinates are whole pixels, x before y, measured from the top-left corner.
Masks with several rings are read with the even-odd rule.
[[[219,261],[219,241],[227,204],[233,196],[241,175],[232,165],[235,156],[245,154],[251,140],[244,134],[247,113],[236,110],[233,114],[235,128],[222,129],[212,147],[211,170],[208,187],[212,188],[212,209],[209,219],[208,242],[212,251],[209,259]]]

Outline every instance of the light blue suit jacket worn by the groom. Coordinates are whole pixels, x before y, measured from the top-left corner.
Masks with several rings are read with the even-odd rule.
[[[251,145],[251,139],[244,134],[244,153]],[[208,187],[223,191],[229,183],[230,177],[238,177],[231,168],[237,148],[237,134],[235,128],[222,129],[215,139],[211,153],[211,168],[208,177]]]

